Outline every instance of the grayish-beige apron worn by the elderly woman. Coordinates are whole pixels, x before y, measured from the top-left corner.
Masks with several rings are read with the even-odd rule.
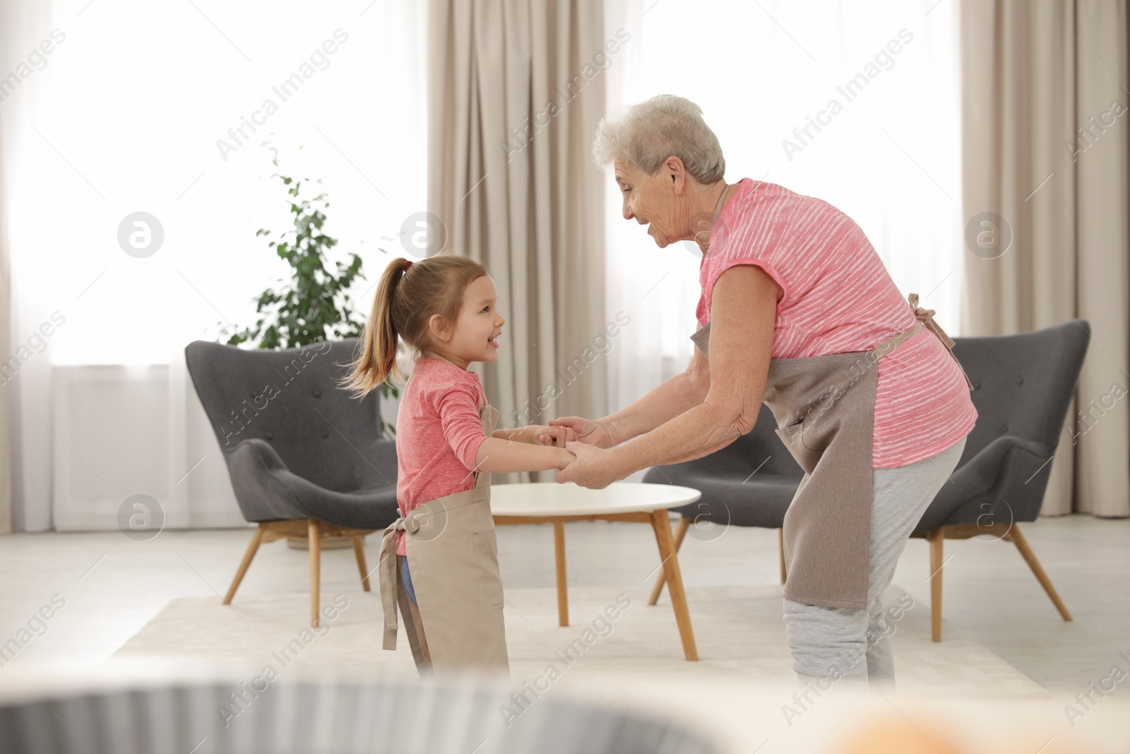
[[[923,322],[953,355],[954,341],[930,320],[933,312],[918,307],[916,294],[909,298],[920,321],[871,350],[770,359],[764,401],[776,418],[777,435],[805,470],[784,517],[784,596],[793,601],[868,606],[878,361]],[[710,356],[709,322],[690,339]]]

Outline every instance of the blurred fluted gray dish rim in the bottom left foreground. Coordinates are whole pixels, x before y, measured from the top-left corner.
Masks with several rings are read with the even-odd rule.
[[[714,754],[659,716],[461,678],[179,684],[0,707],[0,754]],[[520,713],[514,714],[513,710]],[[511,710],[503,714],[504,710]]]

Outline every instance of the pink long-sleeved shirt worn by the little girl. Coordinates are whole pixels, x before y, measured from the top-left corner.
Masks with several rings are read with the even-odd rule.
[[[487,439],[479,406],[487,402],[476,372],[445,358],[417,358],[397,410],[397,503],[400,514],[475,486],[475,457]],[[397,554],[406,555],[405,532]]]

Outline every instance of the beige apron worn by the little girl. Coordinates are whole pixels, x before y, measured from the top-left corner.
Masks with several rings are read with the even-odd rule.
[[[486,404],[479,417],[489,437],[498,409]],[[408,598],[398,567],[400,529],[407,532],[408,572],[418,605]],[[423,503],[389,525],[380,567],[384,649],[397,648],[399,604],[420,675],[475,666],[510,676],[489,471],[476,471],[470,489]]]

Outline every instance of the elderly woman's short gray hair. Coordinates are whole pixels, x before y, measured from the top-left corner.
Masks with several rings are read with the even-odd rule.
[[[661,94],[605,116],[597,125],[592,159],[603,167],[624,157],[654,175],[668,157],[678,157],[699,183],[711,184],[725,174],[725,158],[714,131],[703,120],[703,110],[673,94]]]

